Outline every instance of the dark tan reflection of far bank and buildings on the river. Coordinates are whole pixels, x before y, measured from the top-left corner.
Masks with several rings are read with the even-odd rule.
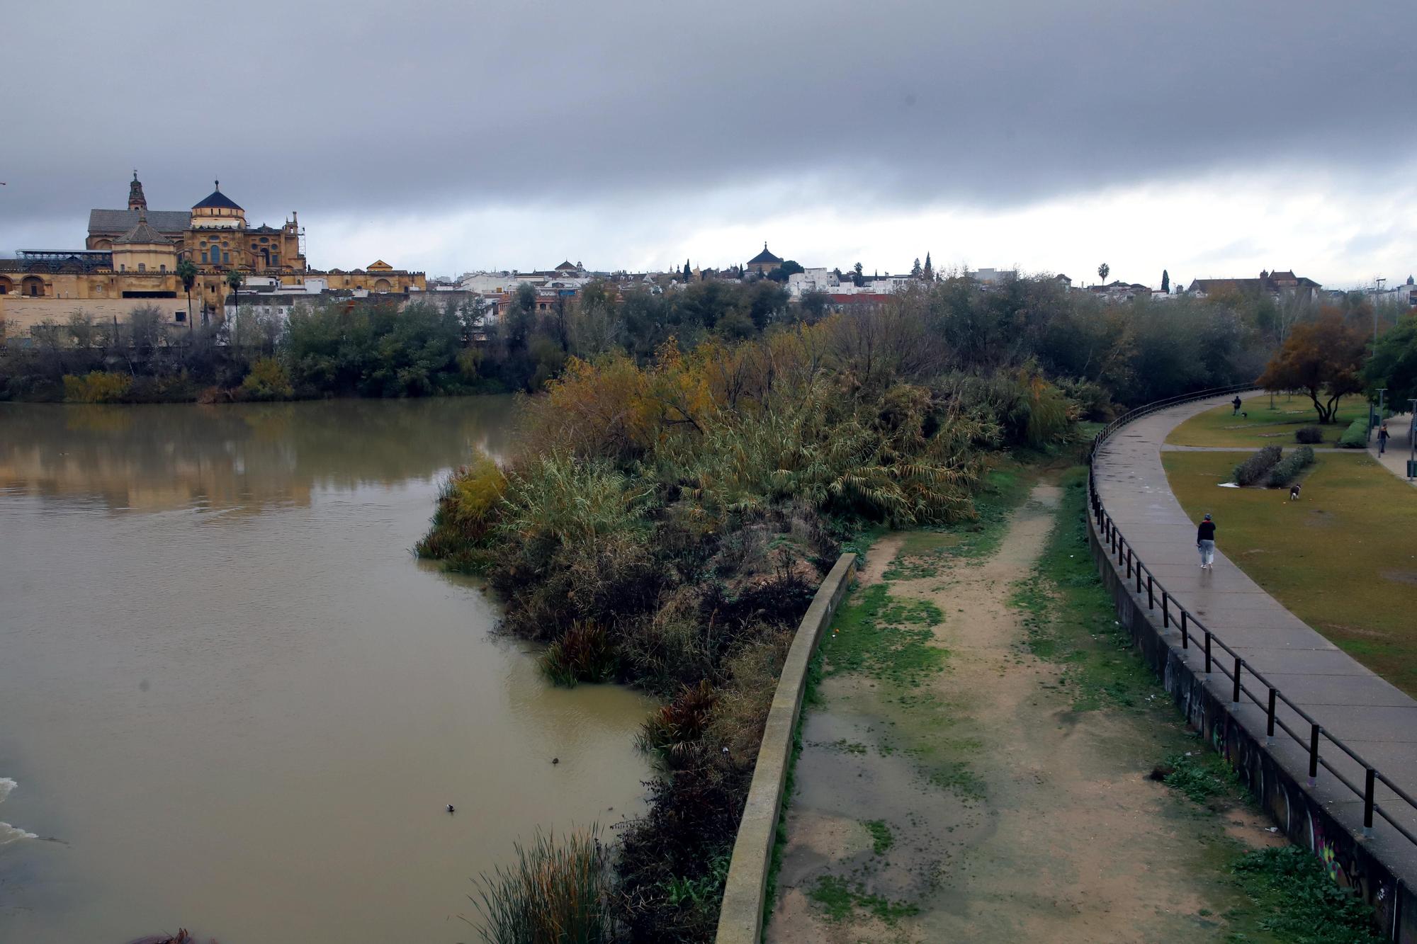
[[[0,490],[112,510],[259,510],[506,452],[510,397],[238,405],[0,404]]]

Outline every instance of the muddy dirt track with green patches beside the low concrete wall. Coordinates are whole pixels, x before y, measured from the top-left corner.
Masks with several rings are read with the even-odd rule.
[[[1029,652],[1010,605],[1057,503],[1037,485],[982,560],[931,556],[921,534],[867,556],[863,585],[880,583],[853,591],[840,631],[859,632],[852,605],[874,605],[877,624],[917,626],[948,655],[931,669],[918,648],[864,649],[847,672],[825,666],[768,941],[1219,934],[1197,812],[1145,777],[1173,744],[1136,713],[1076,710],[1066,665]]]

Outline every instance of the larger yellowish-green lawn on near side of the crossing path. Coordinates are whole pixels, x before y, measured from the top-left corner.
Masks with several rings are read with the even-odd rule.
[[[1253,414],[1251,414],[1253,415]],[[1163,452],[1166,478],[1196,520],[1220,526],[1230,560],[1297,617],[1417,696],[1417,502],[1366,452],[1325,452],[1284,489],[1223,489],[1244,452]]]

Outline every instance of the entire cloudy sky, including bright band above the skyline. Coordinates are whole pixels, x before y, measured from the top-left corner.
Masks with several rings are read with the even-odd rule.
[[[315,266],[1417,271],[1411,0],[10,6],[0,251],[221,189]],[[30,38],[26,38],[30,37]]]

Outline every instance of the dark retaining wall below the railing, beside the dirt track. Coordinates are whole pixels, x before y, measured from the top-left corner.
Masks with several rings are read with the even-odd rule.
[[[1207,679],[1203,665],[1186,659],[1179,631],[1163,629],[1161,605],[1148,609],[1145,592],[1132,591],[1110,557],[1091,515],[1088,543],[1102,583],[1117,601],[1117,619],[1163,679],[1186,720],[1230,763],[1291,842],[1312,850],[1335,882],[1357,889],[1377,910],[1384,934],[1403,944],[1417,943],[1417,896],[1397,873],[1404,866],[1394,870],[1384,863],[1384,859],[1400,863],[1410,858],[1410,843],[1391,828],[1384,836],[1382,821],[1377,838],[1362,839],[1362,802],[1348,791],[1326,790],[1322,782],[1329,777],[1326,771],[1321,771],[1319,788],[1309,787],[1304,750],[1282,734],[1267,744],[1264,726],[1247,723],[1231,709],[1230,680],[1219,672]]]

